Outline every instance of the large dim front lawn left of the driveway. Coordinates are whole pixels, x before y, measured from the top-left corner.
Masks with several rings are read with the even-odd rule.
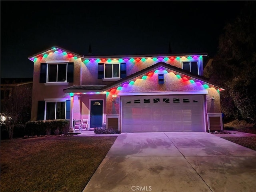
[[[1,192],[81,192],[114,137],[52,136],[1,141]]]

